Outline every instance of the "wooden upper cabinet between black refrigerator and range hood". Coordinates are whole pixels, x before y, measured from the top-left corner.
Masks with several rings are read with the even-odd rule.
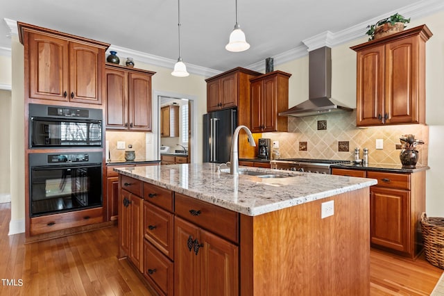
[[[251,82],[251,123],[253,133],[288,131],[288,118],[278,113],[289,108],[291,74],[274,71]]]

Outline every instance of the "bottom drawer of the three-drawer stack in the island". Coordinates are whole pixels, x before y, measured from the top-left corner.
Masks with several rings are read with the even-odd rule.
[[[173,295],[173,266],[167,257],[144,240],[144,277],[160,295]]]

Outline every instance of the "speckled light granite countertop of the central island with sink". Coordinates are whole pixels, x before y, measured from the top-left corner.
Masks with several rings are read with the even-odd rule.
[[[216,163],[187,163],[146,167],[114,167],[114,171],[162,188],[255,216],[316,199],[375,185],[375,179],[242,167],[288,178],[233,176],[216,172]]]

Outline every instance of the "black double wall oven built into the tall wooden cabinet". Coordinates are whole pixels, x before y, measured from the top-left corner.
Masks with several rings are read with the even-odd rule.
[[[31,217],[102,206],[102,114],[29,104]]]

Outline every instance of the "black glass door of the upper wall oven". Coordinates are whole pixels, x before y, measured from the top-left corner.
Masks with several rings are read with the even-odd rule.
[[[30,148],[103,147],[102,121],[31,117]]]

